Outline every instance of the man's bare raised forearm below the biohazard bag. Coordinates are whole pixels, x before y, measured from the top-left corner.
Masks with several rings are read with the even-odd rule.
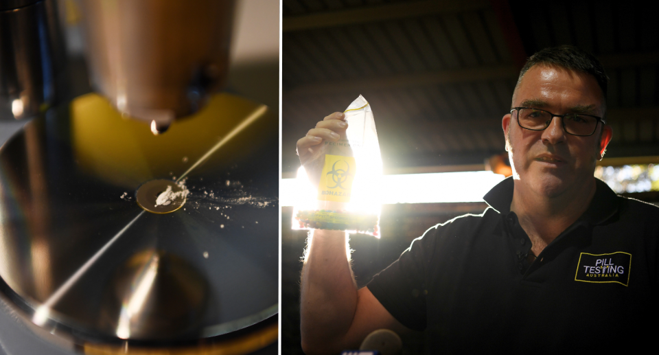
[[[338,353],[346,346],[342,340],[357,307],[357,288],[347,257],[347,236],[343,231],[312,233],[302,269],[302,346],[307,354]]]

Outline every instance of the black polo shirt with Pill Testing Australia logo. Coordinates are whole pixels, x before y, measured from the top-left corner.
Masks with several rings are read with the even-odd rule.
[[[602,181],[590,207],[537,258],[510,209],[513,180],[481,215],[436,225],[373,277],[395,319],[433,354],[592,353],[654,342],[659,208]]]

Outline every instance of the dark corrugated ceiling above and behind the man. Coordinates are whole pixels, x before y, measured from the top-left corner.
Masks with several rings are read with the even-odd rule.
[[[282,171],[295,141],[362,94],[385,173],[483,164],[519,69],[544,47],[592,51],[610,77],[608,157],[659,155],[659,25],[613,1],[284,0]]]

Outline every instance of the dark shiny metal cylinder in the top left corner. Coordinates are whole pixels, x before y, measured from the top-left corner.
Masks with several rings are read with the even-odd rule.
[[[0,119],[34,117],[65,92],[65,45],[54,0],[0,3]]]

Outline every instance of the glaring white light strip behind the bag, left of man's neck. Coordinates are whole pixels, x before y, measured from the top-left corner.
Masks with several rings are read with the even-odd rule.
[[[298,179],[301,179],[299,181]],[[281,205],[297,205],[309,195],[305,176],[281,180]],[[482,202],[505,176],[490,171],[382,176],[382,203]]]

